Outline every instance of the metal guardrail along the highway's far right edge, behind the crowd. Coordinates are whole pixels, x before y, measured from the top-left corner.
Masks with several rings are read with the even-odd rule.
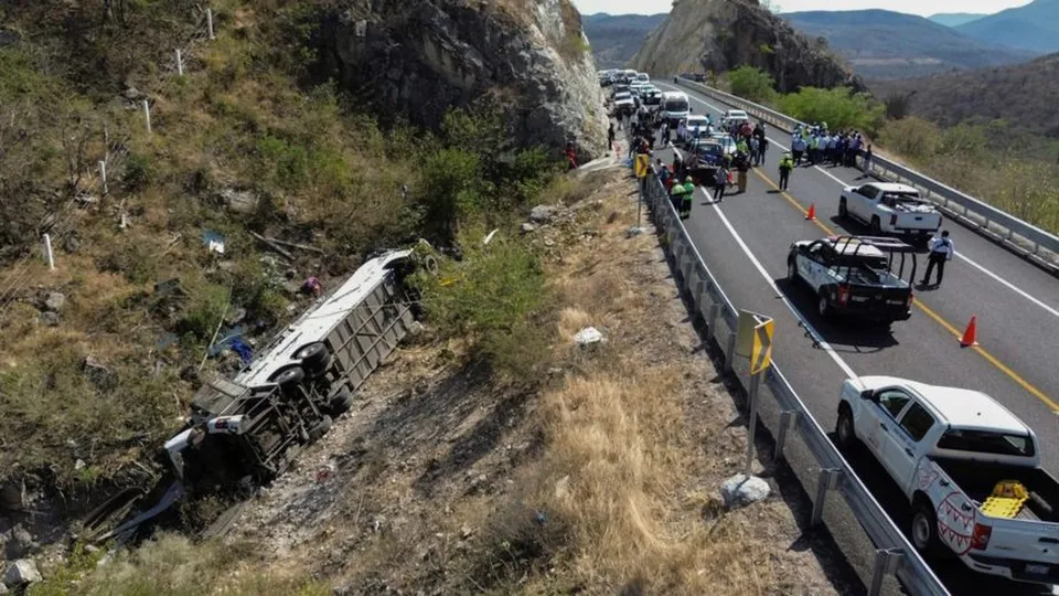
[[[804,123],[790,116],[736,95],[686,78],[680,78],[680,83],[728,105],[744,109],[756,118],[788,132],[793,131],[799,124],[804,126]],[[937,203],[950,217],[993,236],[1048,269],[1059,270],[1059,266],[1057,266],[1057,263],[1059,263],[1059,236],[884,157],[874,156],[871,158],[871,173],[879,178],[894,179],[919,188],[927,199]],[[1041,251],[1046,251],[1050,255],[1041,255]]]

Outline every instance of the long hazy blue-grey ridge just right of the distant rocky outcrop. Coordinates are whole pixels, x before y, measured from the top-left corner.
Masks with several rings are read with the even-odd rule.
[[[865,78],[902,78],[1024,62],[1031,52],[978,41],[922,17],[888,10],[791,12],[794,29],[823,36]]]

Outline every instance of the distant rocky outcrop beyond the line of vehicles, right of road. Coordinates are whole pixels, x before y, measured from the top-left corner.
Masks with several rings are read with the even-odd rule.
[[[757,0],[680,0],[632,58],[632,67],[660,76],[763,68],[781,92],[834,87],[859,79],[824,46],[795,32]]]

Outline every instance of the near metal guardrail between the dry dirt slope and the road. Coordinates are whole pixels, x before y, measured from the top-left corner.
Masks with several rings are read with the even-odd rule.
[[[725,372],[734,373],[748,389],[748,359],[737,359],[735,354],[738,310],[706,266],[665,188],[653,173],[645,180],[644,200],[664,235],[665,248],[681,272],[684,289],[706,321],[707,339],[713,340],[725,355]],[[832,536],[868,586],[869,594],[899,594],[902,592],[896,581],[899,579],[911,594],[948,595],[931,568],[827,438],[774,361],[761,385],[758,398],[751,401],[755,413],[748,419],[756,414],[772,432],[775,437],[773,462],[781,458],[787,460],[813,501],[807,524],[815,526],[823,522],[832,530]],[[767,398],[770,395],[772,400]],[[846,530],[851,528],[853,532]]]

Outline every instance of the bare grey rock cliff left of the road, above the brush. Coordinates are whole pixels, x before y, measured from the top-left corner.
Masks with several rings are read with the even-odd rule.
[[[379,114],[429,127],[488,95],[521,143],[606,151],[603,96],[569,0],[346,0],[315,41],[319,74]]]

